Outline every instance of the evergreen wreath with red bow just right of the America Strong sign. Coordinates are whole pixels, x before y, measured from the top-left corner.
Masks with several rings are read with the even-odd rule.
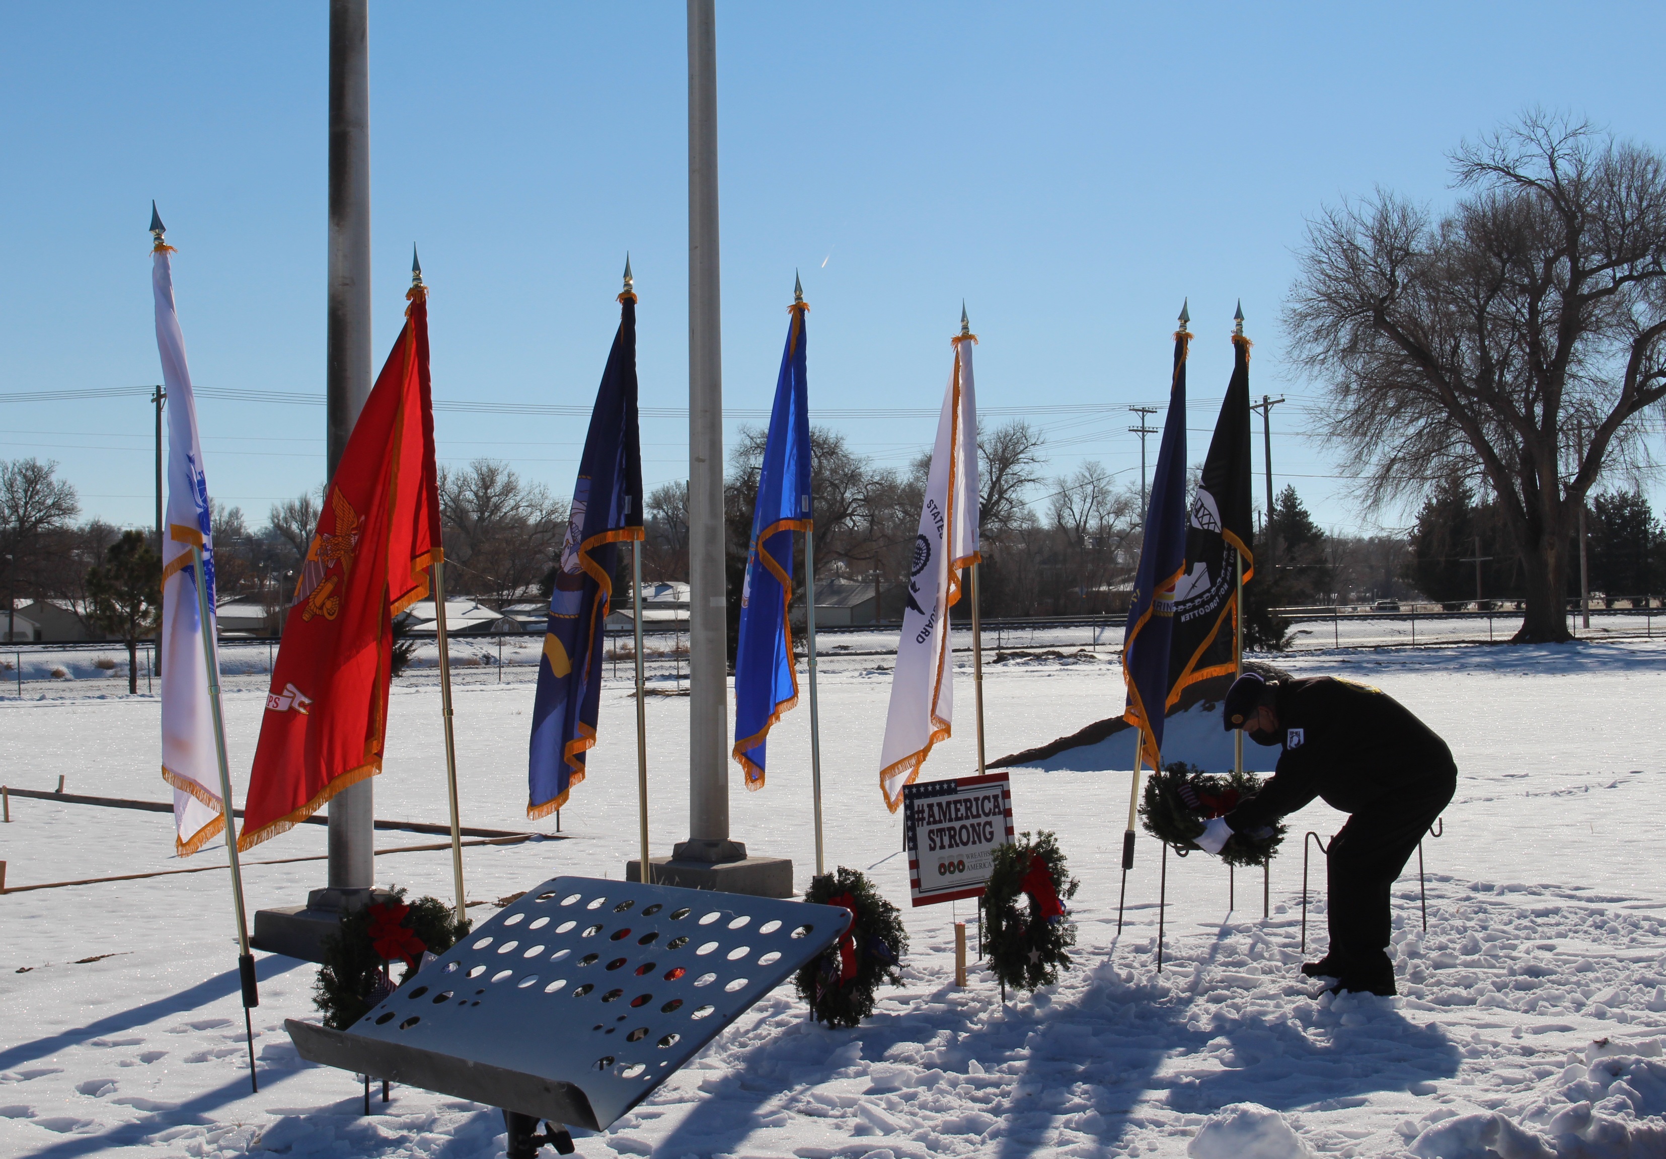
[[[1058,981],[1070,966],[1076,926],[1065,901],[1081,883],[1070,876],[1058,838],[1046,829],[1020,833],[1018,841],[995,848],[995,866],[983,891],[983,953],[1003,986],[1033,991]],[[1030,906],[1020,911],[1018,899]]]

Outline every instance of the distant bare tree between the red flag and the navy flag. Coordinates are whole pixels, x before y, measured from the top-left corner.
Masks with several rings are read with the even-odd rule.
[[[461,573],[456,591],[511,599],[536,588],[566,533],[565,505],[490,458],[441,470],[438,483],[445,558]]]

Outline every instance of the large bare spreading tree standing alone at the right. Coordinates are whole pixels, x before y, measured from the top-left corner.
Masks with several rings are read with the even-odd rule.
[[[1439,220],[1384,192],[1313,220],[1284,325],[1364,498],[1483,476],[1526,578],[1516,639],[1568,639],[1579,506],[1666,398],[1666,158],[1529,112],[1451,160],[1468,193]]]

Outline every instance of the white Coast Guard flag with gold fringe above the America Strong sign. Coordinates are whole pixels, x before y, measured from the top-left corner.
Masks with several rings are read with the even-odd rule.
[[[955,338],[955,370],[943,395],[915,538],[880,749],[880,789],[891,813],[903,803],[903,786],[920,776],[931,746],[948,738],[955,714],[948,609],[960,599],[960,570],[978,561],[978,405],[971,388],[976,341],[973,335]]]

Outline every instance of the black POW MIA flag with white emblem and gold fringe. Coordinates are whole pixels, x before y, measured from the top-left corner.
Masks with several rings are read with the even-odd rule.
[[[1170,644],[1168,703],[1210,676],[1231,674],[1238,616],[1236,560],[1254,575],[1250,500],[1250,340],[1233,336],[1233,378],[1215,423],[1203,478],[1186,528],[1186,573],[1175,586],[1175,638]]]

